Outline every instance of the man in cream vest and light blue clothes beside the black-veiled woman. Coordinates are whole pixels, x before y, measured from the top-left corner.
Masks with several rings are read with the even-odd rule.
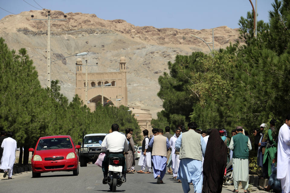
[[[175,142],[175,149],[179,151],[180,165],[178,176],[182,182],[183,192],[190,191],[189,184],[194,186],[194,192],[202,190],[202,157],[205,155],[206,144],[201,134],[195,132],[197,124],[188,123],[188,131],[180,134]]]

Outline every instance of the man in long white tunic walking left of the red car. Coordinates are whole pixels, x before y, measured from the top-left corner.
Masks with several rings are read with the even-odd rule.
[[[8,138],[4,139],[1,144],[1,148],[3,148],[3,154],[1,158],[0,169],[3,169],[4,171],[3,178],[5,178],[8,173],[8,179],[11,179],[13,165],[15,162],[15,151],[17,150],[17,143],[14,139],[11,138],[13,136],[12,132],[7,132],[7,136]]]

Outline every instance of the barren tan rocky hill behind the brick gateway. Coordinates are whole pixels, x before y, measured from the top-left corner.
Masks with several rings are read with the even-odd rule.
[[[0,36],[10,49],[22,47],[28,50],[39,74],[41,85],[46,86],[47,24],[31,20],[47,18],[48,10],[25,11],[19,15],[8,15],[0,20]],[[204,42],[212,42],[212,30],[158,29],[152,26],[134,26],[124,20],[103,20],[95,14],[63,13],[51,11],[52,60],[80,52],[88,52],[89,72],[118,70],[121,56],[127,62],[127,87],[129,105],[141,105],[150,109],[153,117],[162,109],[157,97],[158,77],[168,72],[167,62],[174,62],[177,54],[189,55],[195,51],[209,53]],[[214,28],[214,48],[225,48],[239,36],[238,29],[226,26]],[[83,62],[84,62],[83,60]],[[69,100],[74,96],[76,57],[53,62],[52,79],[61,83],[61,92]],[[97,64],[98,63],[98,64]]]

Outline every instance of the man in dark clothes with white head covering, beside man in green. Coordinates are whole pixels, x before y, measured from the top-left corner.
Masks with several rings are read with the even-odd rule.
[[[263,172],[263,178],[267,178],[268,177],[268,165],[267,163],[265,163],[263,165],[263,159],[264,159],[264,153],[265,153],[265,150],[266,150],[266,145],[267,145],[267,141],[266,139],[264,138],[264,128],[266,127],[267,125],[265,123],[262,123],[260,125],[260,129],[261,129],[261,132],[260,132],[260,141],[259,141],[259,144],[258,144],[258,156],[257,156],[257,164],[258,166],[262,167],[262,172]]]

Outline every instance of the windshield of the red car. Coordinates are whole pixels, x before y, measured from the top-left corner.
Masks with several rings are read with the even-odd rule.
[[[72,143],[69,138],[40,139],[36,150],[70,149]]]

